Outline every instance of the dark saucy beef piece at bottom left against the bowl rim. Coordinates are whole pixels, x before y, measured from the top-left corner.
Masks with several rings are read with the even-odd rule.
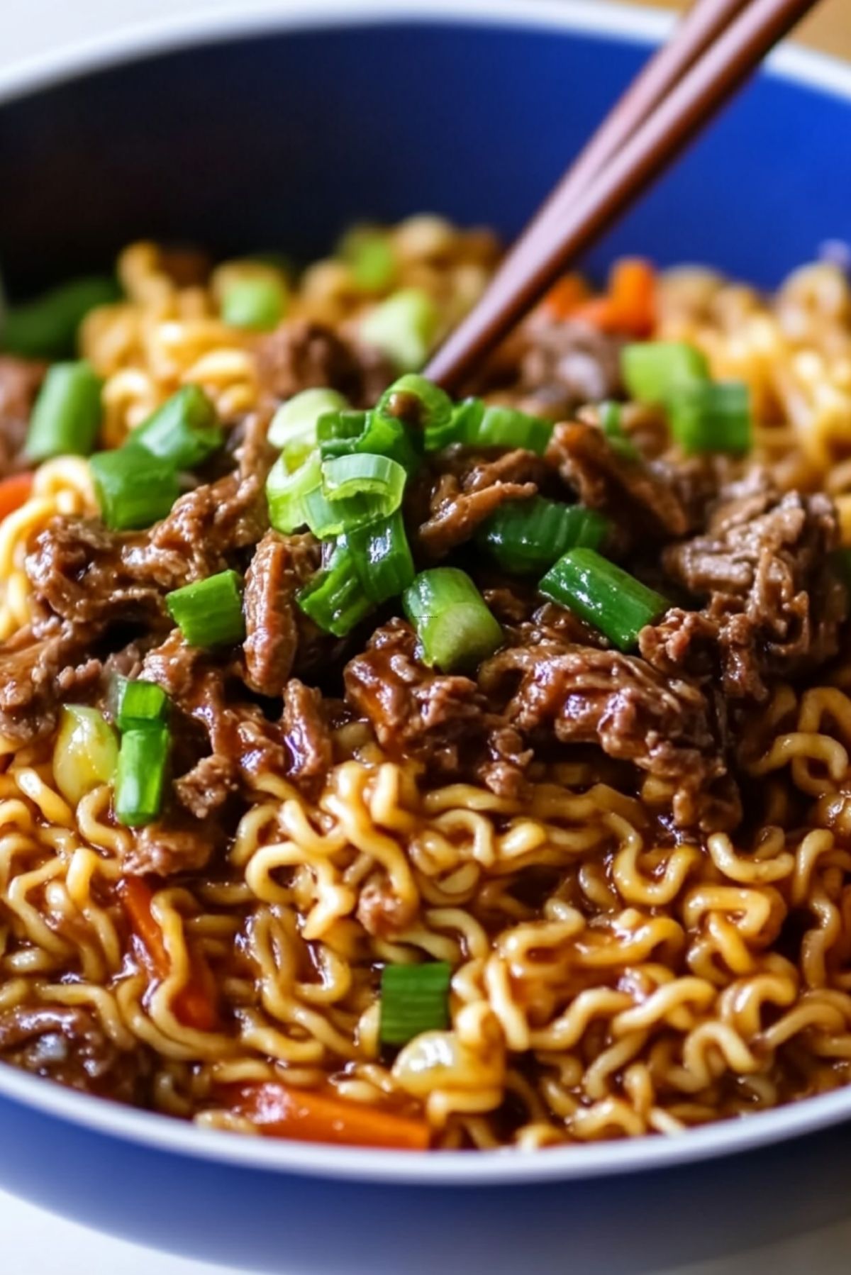
[[[138,1103],[149,1070],[144,1048],[120,1052],[82,1006],[17,1006],[0,1014],[0,1058],[88,1093]]]

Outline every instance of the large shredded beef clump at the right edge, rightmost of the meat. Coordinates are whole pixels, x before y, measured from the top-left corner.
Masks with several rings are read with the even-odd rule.
[[[838,652],[847,594],[828,555],[838,542],[829,497],[774,492],[764,478],[734,483],[707,532],[663,553],[669,575],[697,598],[640,635],[642,653],[675,676],[721,672],[732,700],[762,701],[768,677],[791,677]]]

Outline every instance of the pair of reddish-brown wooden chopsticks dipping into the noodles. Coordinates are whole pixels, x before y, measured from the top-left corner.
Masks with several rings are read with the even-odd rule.
[[[817,0],[695,0],[524,229],[425,375],[457,390],[478,361],[676,159]]]

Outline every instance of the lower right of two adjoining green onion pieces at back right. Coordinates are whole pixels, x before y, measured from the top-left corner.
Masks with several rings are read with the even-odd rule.
[[[671,433],[688,455],[750,450],[750,393],[743,381],[676,385],[667,412]]]

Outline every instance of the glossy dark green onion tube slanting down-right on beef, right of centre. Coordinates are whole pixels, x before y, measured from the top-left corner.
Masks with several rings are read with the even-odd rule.
[[[661,593],[588,548],[569,550],[538,589],[593,625],[620,650],[634,646],[644,625],[658,620],[670,606]]]

